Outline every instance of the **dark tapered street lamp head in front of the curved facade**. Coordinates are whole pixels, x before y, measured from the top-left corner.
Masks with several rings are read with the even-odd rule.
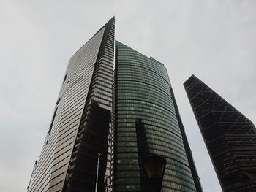
[[[142,165],[154,192],[160,192],[162,178],[165,173],[165,158],[158,155],[151,155],[144,158]]]

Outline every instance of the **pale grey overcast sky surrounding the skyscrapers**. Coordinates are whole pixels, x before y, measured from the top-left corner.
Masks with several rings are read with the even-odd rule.
[[[256,123],[255,0],[0,2],[0,191],[26,191],[69,58],[113,15],[118,41],[165,64],[203,190],[221,191],[183,83]]]

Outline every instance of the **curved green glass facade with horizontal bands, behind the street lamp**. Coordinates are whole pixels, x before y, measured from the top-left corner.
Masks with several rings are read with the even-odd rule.
[[[142,161],[167,161],[162,191],[196,191],[165,66],[116,41],[115,191],[151,191]]]

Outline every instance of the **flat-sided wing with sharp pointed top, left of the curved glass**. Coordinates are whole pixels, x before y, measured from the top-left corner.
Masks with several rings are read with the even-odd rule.
[[[112,104],[112,18],[70,58],[29,191],[105,191]],[[107,166],[108,164],[108,166]]]

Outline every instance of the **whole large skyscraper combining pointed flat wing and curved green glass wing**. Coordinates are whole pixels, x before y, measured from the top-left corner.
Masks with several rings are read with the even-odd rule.
[[[162,191],[202,191],[165,66],[115,42],[114,21],[70,58],[29,191],[151,192],[151,155]]]

